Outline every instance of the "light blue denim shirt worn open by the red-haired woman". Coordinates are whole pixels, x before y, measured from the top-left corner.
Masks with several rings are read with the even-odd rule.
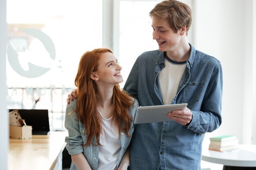
[[[74,99],[74,101],[70,101],[70,104],[67,105],[67,108],[66,108],[65,128],[68,130],[68,136],[65,138],[65,142],[67,142],[66,148],[70,155],[83,153],[92,170],[97,170],[100,146],[96,142],[96,137],[94,137],[92,141],[92,143],[95,145],[90,144],[90,146],[84,147],[83,144],[85,144],[87,141],[85,126],[81,121],[79,121],[79,118],[77,117],[76,112],[68,115],[68,113],[75,110],[76,101],[77,101],[76,99]],[[135,104],[134,106],[130,107],[130,112],[129,112],[129,114],[132,116],[133,119],[135,117],[135,113],[138,106],[139,106],[138,101],[135,99]],[[117,162],[117,168],[119,167],[120,161],[124,156],[124,153],[126,152],[127,147],[130,144],[133,131],[134,131],[134,124],[132,121],[130,131],[129,131],[130,137],[126,136],[124,132],[120,133],[121,151],[120,151],[118,162]],[[73,162],[71,163],[70,170],[77,170]]]

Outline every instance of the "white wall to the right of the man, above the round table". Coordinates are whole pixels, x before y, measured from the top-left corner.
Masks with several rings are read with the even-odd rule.
[[[240,144],[252,139],[253,0],[195,0],[195,48],[222,63],[222,125],[207,137],[236,135]],[[254,62],[253,62],[254,61]],[[255,101],[254,101],[255,102]],[[254,103],[255,105],[255,103]],[[255,133],[255,131],[254,131]]]

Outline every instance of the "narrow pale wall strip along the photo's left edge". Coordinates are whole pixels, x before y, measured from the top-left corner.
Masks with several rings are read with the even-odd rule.
[[[7,170],[7,157],[9,148],[9,120],[6,108],[6,0],[0,1],[0,137],[1,159],[0,169]]]

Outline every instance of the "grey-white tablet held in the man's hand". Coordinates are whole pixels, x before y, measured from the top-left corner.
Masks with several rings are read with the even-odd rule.
[[[171,119],[167,117],[167,114],[173,110],[185,110],[186,106],[187,103],[138,107],[134,123],[146,124],[152,122],[171,121]]]

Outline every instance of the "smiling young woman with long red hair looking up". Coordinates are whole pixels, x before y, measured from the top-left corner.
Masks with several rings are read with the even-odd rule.
[[[138,102],[119,88],[121,69],[110,49],[81,57],[75,78],[78,97],[67,105],[65,118],[70,170],[127,170]]]

